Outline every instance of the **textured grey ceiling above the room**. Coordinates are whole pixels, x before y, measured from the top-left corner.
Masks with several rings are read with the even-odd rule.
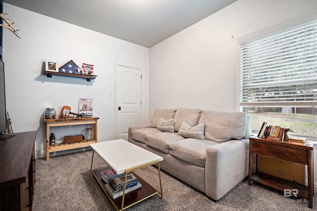
[[[145,47],[152,47],[234,1],[4,0],[11,5]]]

